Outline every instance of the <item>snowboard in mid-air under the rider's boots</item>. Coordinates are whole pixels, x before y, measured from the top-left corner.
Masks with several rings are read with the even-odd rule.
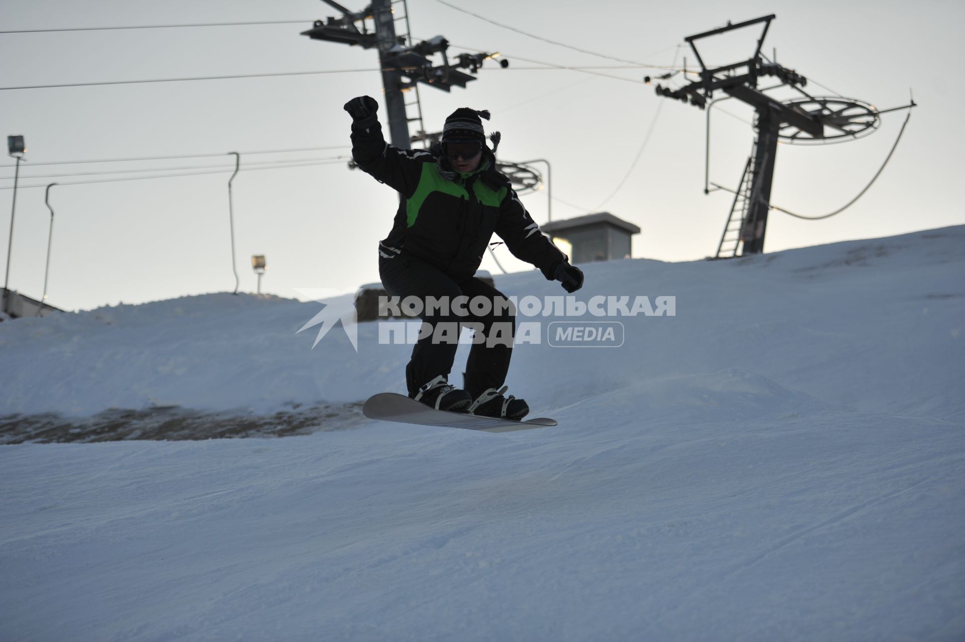
[[[370,397],[362,406],[362,414],[369,419],[380,421],[418,424],[419,426],[439,426],[441,428],[462,428],[483,433],[511,433],[513,431],[556,426],[555,419],[547,419],[546,417],[515,421],[495,417],[477,417],[464,412],[436,410],[414,399],[392,392],[382,392]]]

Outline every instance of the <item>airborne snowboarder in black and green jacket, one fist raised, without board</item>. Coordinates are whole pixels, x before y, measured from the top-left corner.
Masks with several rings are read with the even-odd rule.
[[[519,201],[510,180],[496,169],[500,133],[486,145],[483,121],[488,111],[462,107],[446,119],[442,140],[432,149],[400,150],[385,142],[376,112],[378,102],[362,96],[345,103],[352,117],[352,157],[379,182],[400,193],[392,231],[378,244],[378,271],[391,296],[423,301],[423,327],[433,330],[412,349],[405,368],[408,396],[441,410],[487,417],[521,419],[529,412],[522,399],[504,397],[510,367],[514,310],[503,293],[474,275],[493,233],[516,258],[533,264],[548,280],[560,281],[567,293],[583,286],[583,272],[549,238]],[[464,306],[458,296],[484,297],[490,306]],[[451,304],[429,307],[430,297]],[[483,314],[489,310],[487,314]],[[471,324],[485,341],[469,351],[464,389],[448,381],[455,360],[458,323]],[[446,324],[455,333],[439,333]],[[454,336],[455,335],[455,336]],[[440,337],[442,340],[440,340]]]

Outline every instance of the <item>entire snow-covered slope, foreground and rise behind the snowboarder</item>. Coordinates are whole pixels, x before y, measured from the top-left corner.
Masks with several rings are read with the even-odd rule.
[[[510,389],[553,429],[0,447],[0,639],[962,639],[963,241],[587,265],[583,300],[676,317],[516,349]],[[399,390],[408,347],[363,323],[358,355],[310,350],[319,308],[5,322],[0,414]]]

